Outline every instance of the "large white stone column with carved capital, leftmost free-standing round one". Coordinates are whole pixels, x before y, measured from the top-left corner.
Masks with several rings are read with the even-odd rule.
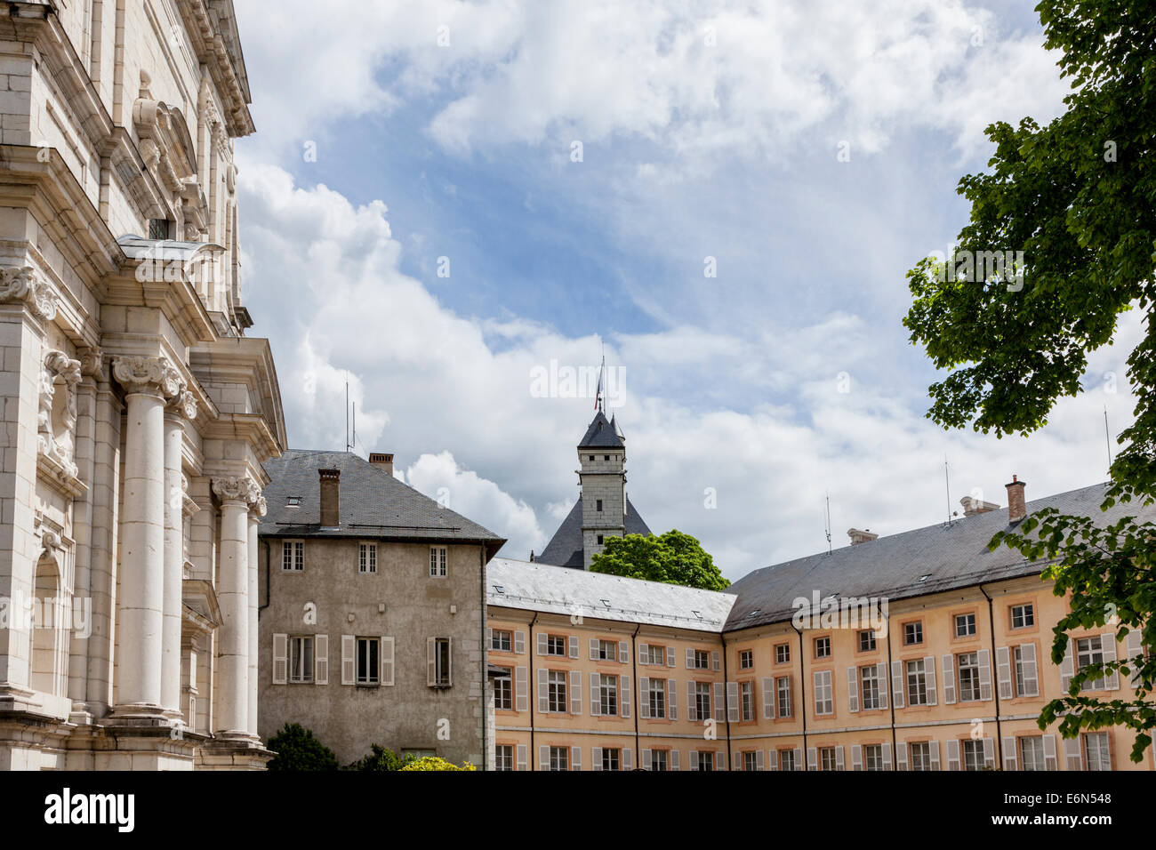
[[[127,390],[117,664],[118,715],[160,714],[164,620],[164,406],[181,389],[163,357],[119,357]]]

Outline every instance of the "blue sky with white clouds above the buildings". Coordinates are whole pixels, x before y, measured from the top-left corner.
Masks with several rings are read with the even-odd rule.
[[[277,8],[237,2],[258,125],[237,149],[245,300],[295,448],[342,448],[349,379],[358,451],[525,557],[577,495],[592,407],[528,376],[605,346],[631,500],[732,579],[824,546],[828,491],[836,545],[942,520],[944,456],[953,501],[1103,479],[1127,347],[1043,433],[995,441],[922,417],[935,376],[901,324],[984,126],[1060,108],[1027,5]]]

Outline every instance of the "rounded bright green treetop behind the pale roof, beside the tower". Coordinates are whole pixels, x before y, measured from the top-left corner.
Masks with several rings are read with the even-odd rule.
[[[702,545],[677,529],[659,537],[627,534],[606,538],[606,547],[594,555],[590,569],[592,572],[682,584],[702,590],[731,586]]]

